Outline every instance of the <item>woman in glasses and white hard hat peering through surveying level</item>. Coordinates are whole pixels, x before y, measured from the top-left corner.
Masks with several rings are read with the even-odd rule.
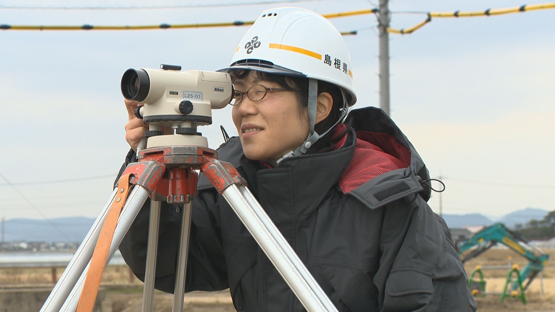
[[[239,137],[219,158],[248,181],[339,311],[476,310],[445,222],[426,204],[430,177],[412,144],[380,109],[343,122],[356,95],[330,22],[305,9],[262,12],[221,71],[234,82]],[[142,132],[130,115],[133,149]],[[163,209],[155,286],[173,292],[181,217]],[[148,217],[147,205],[120,245],[140,279]],[[186,291],[229,287],[238,311],[304,311],[205,177],[190,235]]]

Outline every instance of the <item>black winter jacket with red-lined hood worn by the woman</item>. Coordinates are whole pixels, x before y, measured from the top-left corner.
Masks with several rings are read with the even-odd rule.
[[[353,110],[342,147],[283,160],[218,149],[246,178],[280,232],[340,312],[475,311],[442,218],[428,207],[428,170],[381,109]],[[149,204],[120,250],[144,280]],[[173,292],[180,213],[163,205],[155,286]],[[186,291],[229,288],[238,311],[304,311],[223,197],[201,176],[193,203]]]

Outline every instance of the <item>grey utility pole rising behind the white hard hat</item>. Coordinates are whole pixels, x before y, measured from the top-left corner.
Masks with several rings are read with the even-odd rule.
[[[391,116],[389,109],[389,8],[388,0],[380,0],[378,31],[380,34],[380,108]]]

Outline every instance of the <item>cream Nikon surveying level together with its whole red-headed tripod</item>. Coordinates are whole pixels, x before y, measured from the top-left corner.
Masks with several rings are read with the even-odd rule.
[[[122,93],[136,100],[135,115],[149,125],[138,162],[130,163],[117,187],[85,236],[41,312],[93,309],[102,271],[123,240],[133,220],[150,197],[150,224],[142,311],[152,311],[158,245],[160,204],[177,204],[182,214],[179,259],[176,267],[173,312],[183,310],[191,208],[198,170],[223,195],[301,304],[310,312],[337,312],[309,270],[279,232],[233,165],[220,162],[208,140],[197,132],[212,123],[211,109],[224,108],[234,90],[228,73],[160,69],[128,69]],[[163,129],[172,133],[164,133]],[[144,142],[144,140],[143,140]]]

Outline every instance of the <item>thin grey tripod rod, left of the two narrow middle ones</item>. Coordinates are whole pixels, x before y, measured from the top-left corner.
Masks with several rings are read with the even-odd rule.
[[[154,276],[156,270],[156,254],[158,252],[158,232],[160,229],[160,202],[150,200],[150,224],[148,228],[147,270],[144,276],[143,310],[152,311],[154,300]]]

